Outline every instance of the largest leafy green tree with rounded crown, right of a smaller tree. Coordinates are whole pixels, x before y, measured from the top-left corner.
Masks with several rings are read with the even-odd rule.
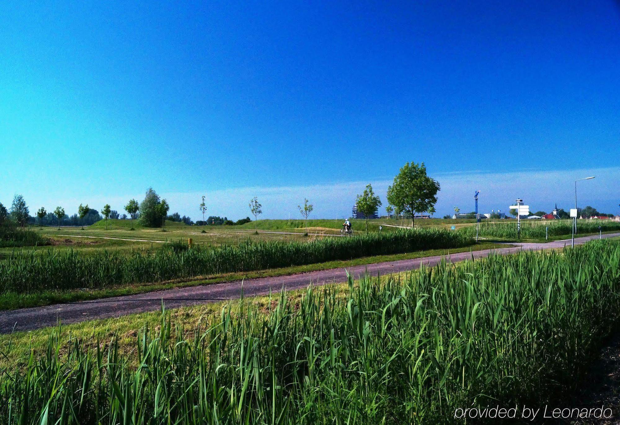
[[[400,211],[411,214],[413,228],[415,212],[435,211],[439,190],[439,182],[428,177],[423,162],[407,162],[394,177],[394,184],[387,188],[387,201]]]

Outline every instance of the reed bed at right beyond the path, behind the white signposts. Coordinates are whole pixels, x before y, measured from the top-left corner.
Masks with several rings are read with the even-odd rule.
[[[521,238],[544,239],[546,227],[549,227],[549,236],[570,235],[572,232],[572,220],[521,220]],[[500,237],[516,239],[516,222],[482,221],[479,225],[481,237]],[[620,222],[611,220],[578,220],[577,232],[579,234],[597,233],[601,226],[603,232],[620,230]],[[469,237],[476,236],[476,226],[461,227],[458,230]]]

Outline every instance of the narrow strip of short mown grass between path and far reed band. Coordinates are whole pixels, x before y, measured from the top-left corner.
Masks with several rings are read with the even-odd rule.
[[[7,291],[0,294],[0,310],[23,309],[26,307],[38,307],[42,305],[61,304],[66,302],[76,302],[84,300],[95,300],[107,297],[126,296],[132,294],[141,294],[143,292],[160,291],[162,289],[172,289],[175,287],[187,287],[206,285],[214,283],[223,283],[231,281],[240,281],[242,279],[267,278],[274,276],[285,276],[294,273],[307,273],[310,271],[327,270],[334,268],[349,268],[353,266],[368,265],[373,263],[382,263],[385,261],[410,260],[413,258],[422,258],[427,256],[450,255],[459,252],[481,251],[494,248],[506,248],[513,245],[497,244],[491,242],[477,243],[471,247],[450,248],[425,250],[411,253],[391,254],[391,255],[374,255],[355,258],[353,260],[334,260],[325,263],[314,263],[301,266],[290,266],[281,268],[272,268],[257,271],[248,271],[243,273],[225,273],[209,276],[208,278],[195,279],[174,279],[172,281],[161,283],[144,283],[130,284],[108,287],[105,289],[79,289],[64,291],[37,291],[25,293],[22,291]]]

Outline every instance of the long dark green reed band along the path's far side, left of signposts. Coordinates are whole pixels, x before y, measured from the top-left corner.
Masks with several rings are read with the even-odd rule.
[[[325,237],[310,242],[250,242],[187,249],[171,243],[156,253],[130,255],[102,250],[92,255],[47,250],[14,253],[0,261],[0,292],[99,289],[221,273],[348,260],[369,255],[456,248],[472,239],[438,229],[414,229],[355,237]]]

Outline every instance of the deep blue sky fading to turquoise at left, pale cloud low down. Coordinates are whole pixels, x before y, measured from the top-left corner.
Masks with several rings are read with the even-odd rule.
[[[440,216],[568,207],[583,173],[619,212],[618,2],[385,3],[2,6],[0,202],[343,217],[423,161]]]

